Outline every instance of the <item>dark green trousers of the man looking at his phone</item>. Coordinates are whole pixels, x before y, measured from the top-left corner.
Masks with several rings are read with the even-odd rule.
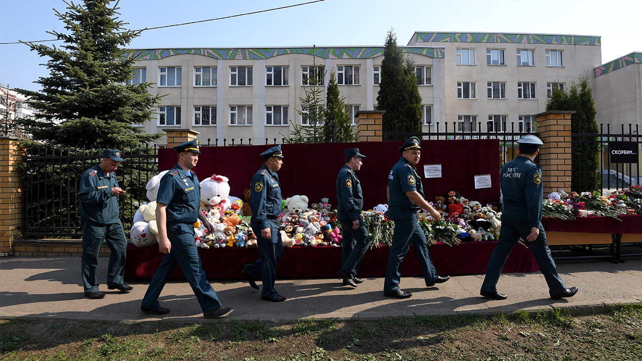
[[[109,256],[107,269],[107,286],[123,283],[125,274],[125,260],[127,257],[127,240],[123,231],[123,224],[118,220],[114,224],[82,224],[82,258],[80,259],[80,272],[85,295],[98,292],[98,254],[103,247],[103,242],[112,250]]]

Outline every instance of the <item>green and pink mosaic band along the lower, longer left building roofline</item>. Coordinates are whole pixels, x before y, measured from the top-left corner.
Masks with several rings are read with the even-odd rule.
[[[404,48],[406,53],[425,55],[431,58],[444,58],[444,48]],[[239,48],[239,49],[140,49],[125,52],[125,58],[135,60],[159,60],[172,55],[198,54],[215,59],[254,60],[277,57],[279,55],[306,54],[325,59],[365,59],[383,55],[383,48]]]

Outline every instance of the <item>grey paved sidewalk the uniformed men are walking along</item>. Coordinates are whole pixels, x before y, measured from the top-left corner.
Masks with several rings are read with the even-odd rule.
[[[99,279],[107,278],[107,258],[100,258]],[[383,296],[383,278],[365,280],[357,288],[343,286],[338,279],[277,279],[276,288],[288,300],[271,303],[261,300],[239,279],[209,281],[224,306],[234,309],[224,319],[288,322],[295,319],[378,319],[413,315],[455,313],[496,313],[515,310],[569,308],[591,312],[615,303],[642,303],[642,262],[639,257],[614,264],[600,260],[560,260],[557,270],[566,286],[578,286],[575,297],[555,301],[549,298],[544,276],[503,274],[498,290],[508,299],[496,301],[479,295],[483,275],[453,276],[450,281],[427,288],[421,277],[402,277],[401,288],[413,292],[409,299]],[[215,275],[209,275],[215,276]],[[0,317],[61,318],[106,321],[202,322],[189,284],[171,280],[160,295],[161,306],[171,309],[164,317],[141,313],[141,299],[149,280],[128,282],[128,294],[107,290],[104,299],[83,296],[80,258],[1,258]]]

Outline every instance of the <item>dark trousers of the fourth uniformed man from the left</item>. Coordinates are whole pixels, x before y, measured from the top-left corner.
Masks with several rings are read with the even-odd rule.
[[[361,260],[363,260],[365,252],[368,251],[368,247],[370,247],[368,230],[363,220],[361,220],[361,216],[358,216],[358,219],[359,228],[357,229],[352,229],[352,222],[349,220],[339,221],[343,229],[341,268],[351,274],[352,278],[357,275]]]

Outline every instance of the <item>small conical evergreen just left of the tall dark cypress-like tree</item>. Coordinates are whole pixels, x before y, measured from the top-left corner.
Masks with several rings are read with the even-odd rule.
[[[345,97],[341,96],[336,83],[336,71],[330,71],[330,82],[325,94],[325,124],[323,127],[324,143],[351,143],[355,141],[351,114],[345,106]]]

